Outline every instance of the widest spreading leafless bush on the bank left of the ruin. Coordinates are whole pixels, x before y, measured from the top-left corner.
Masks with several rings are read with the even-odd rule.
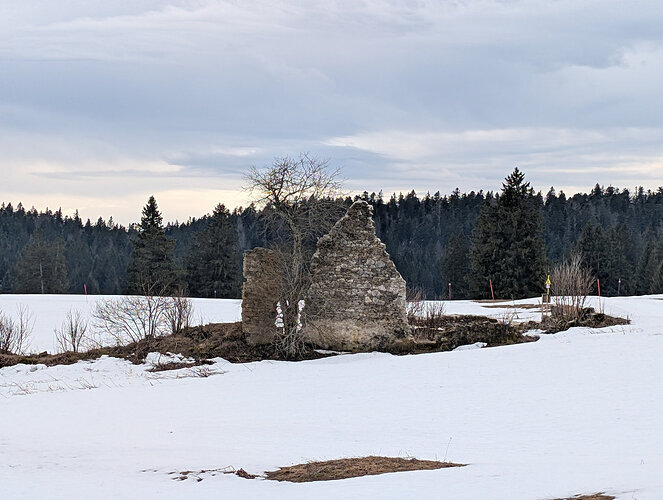
[[[154,295],[102,300],[92,312],[94,325],[119,345],[166,335],[169,301]]]

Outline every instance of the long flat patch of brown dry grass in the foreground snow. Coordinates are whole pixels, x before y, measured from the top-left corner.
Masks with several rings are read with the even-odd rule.
[[[309,462],[306,464],[281,467],[267,472],[265,477],[274,481],[306,483],[311,481],[331,481],[351,477],[374,476],[390,472],[414,470],[436,470],[447,467],[464,467],[465,464],[438,462],[436,460],[417,460],[416,458],[361,457]]]

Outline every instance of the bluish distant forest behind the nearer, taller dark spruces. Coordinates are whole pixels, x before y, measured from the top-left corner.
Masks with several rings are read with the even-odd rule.
[[[360,198],[373,206],[378,236],[409,288],[422,290],[427,298],[446,298],[448,283],[452,281],[453,297],[466,296],[463,276],[470,265],[470,252],[465,251],[462,239],[458,238],[461,234],[472,234],[481,207],[497,205],[499,197],[490,192],[461,193],[456,189],[447,196],[435,193],[420,197],[410,192],[385,199],[382,193],[364,193]],[[589,194],[568,198],[551,188],[545,200],[539,196],[533,202],[534,199],[542,209],[546,254],[551,265],[582,246],[588,254],[586,262],[591,260],[593,269],[598,270],[604,295],[617,293],[619,279],[623,295],[661,290],[655,281],[663,262],[663,188],[656,191],[640,188],[630,193],[595,186]],[[349,206],[352,199],[339,201]],[[210,218],[190,219],[165,228],[168,238],[175,241],[174,258],[180,267],[188,267],[194,238],[207,228]],[[240,269],[239,261],[245,250],[269,245],[278,237],[273,228],[265,227],[262,211],[253,206],[234,210],[229,222],[237,234],[236,259]],[[69,293],[83,293],[84,285],[94,294],[118,294],[126,290],[132,240],[139,239],[135,228],[126,229],[112,220],[84,222],[78,215],[63,216],[59,210],[26,211],[20,204],[2,204],[1,293],[17,291],[15,278],[21,267],[17,262],[37,229],[45,241],[60,238],[64,242]],[[491,249],[496,259],[501,254],[497,248]],[[190,293],[209,296],[209,288],[199,290],[197,281],[199,278],[188,279],[189,286],[194,288]],[[228,293],[238,297],[241,283],[241,273],[237,273]],[[477,297],[487,297],[488,281],[484,279],[480,285]],[[467,297],[470,296],[468,291]]]

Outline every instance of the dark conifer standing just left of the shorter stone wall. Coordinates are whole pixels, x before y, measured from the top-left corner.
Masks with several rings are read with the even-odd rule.
[[[238,297],[241,287],[237,230],[224,205],[193,237],[186,259],[189,293],[197,297]]]

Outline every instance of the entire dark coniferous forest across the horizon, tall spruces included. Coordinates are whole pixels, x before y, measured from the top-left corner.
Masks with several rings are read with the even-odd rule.
[[[408,287],[427,298],[488,298],[489,280],[498,297],[535,296],[550,268],[573,252],[604,295],[663,293],[663,188],[542,194],[516,169],[495,193],[356,198],[373,206],[378,236]],[[155,272],[169,276],[170,291],[239,297],[243,252],[270,244],[268,211],[219,204],[210,215],[164,226],[150,198],[141,222],[123,227],[112,218],[93,223],[3,203],[0,292],[140,292],[137,276],[157,251]]]

